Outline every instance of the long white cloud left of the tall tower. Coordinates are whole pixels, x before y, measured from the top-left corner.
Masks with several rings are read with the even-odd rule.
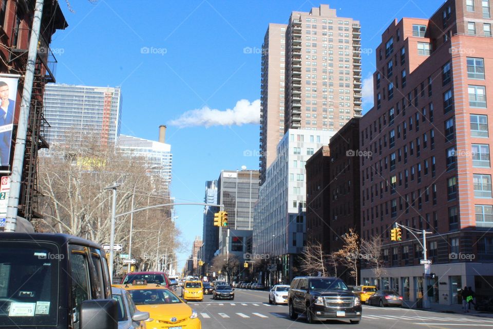
[[[257,99],[250,103],[247,99],[236,102],[233,109],[227,108],[225,111],[209,108],[191,109],[183,113],[178,119],[169,121],[169,124],[183,127],[213,125],[242,125],[247,123],[260,122],[260,100]]]

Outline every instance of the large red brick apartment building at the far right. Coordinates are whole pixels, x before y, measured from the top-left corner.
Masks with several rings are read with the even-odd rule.
[[[489,1],[449,0],[429,20],[396,20],[376,49],[374,107],[360,124],[361,231],[381,235],[381,288],[422,296],[422,247],[393,223],[426,229],[433,303],[460,304],[467,285],[493,294],[493,198],[489,149],[493,49]],[[332,151],[331,151],[332,153]],[[421,238],[421,236],[418,236]],[[362,283],[376,283],[362,269]]]

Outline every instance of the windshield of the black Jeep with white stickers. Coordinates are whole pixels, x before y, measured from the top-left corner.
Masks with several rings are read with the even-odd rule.
[[[0,243],[0,326],[56,325],[64,257],[51,243]]]

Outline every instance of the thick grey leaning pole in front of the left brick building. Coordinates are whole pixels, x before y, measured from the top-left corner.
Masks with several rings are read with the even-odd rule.
[[[36,0],[34,17],[32,19],[32,33],[27,54],[26,75],[22,91],[21,112],[17,125],[15,138],[14,158],[12,160],[12,175],[10,178],[10,192],[7,203],[5,219],[5,232],[15,232],[17,226],[17,211],[19,196],[21,194],[22,168],[24,167],[24,151],[26,149],[27,126],[29,120],[29,108],[31,106],[32,84],[34,82],[34,69],[36,66],[37,44],[40,39],[41,17],[43,15],[44,0]]]

